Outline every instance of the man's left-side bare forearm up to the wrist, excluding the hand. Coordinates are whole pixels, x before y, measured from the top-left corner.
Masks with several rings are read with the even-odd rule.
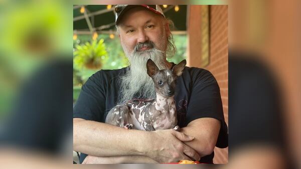
[[[94,156],[142,155],[139,148],[145,133],[77,118],[73,120],[73,149]]]

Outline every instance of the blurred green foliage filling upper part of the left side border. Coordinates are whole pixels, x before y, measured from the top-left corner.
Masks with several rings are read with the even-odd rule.
[[[0,123],[34,73],[51,62],[72,59],[68,5],[72,8],[58,0],[0,0]]]

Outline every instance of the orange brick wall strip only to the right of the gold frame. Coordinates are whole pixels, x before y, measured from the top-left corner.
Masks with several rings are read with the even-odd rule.
[[[210,6],[210,63],[205,68],[216,78],[221,90],[228,124],[228,6]],[[228,148],[215,148],[214,163],[228,163]]]

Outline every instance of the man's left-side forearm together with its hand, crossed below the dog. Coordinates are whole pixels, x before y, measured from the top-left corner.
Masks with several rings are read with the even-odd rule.
[[[89,155],[145,155],[161,163],[200,158],[193,148],[182,142],[194,138],[173,129],[128,130],[81,118],[74,118],[73,126],[73,149]]]

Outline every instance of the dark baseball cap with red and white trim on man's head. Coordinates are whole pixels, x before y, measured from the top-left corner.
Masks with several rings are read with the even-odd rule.
[[[161,7],[158,4],[138,4],[138,5],[129,5],[129,4],[117,4],[115,5],[115,21],[116,21],[116,25],[119,24],[120,18],[122,17],[122,15],[124,13],[126,13],[126,11],[128,11],[131,8],[134,7],[138,7],[138,6],[142,6],[147,8],[150,11],[153,11],[157,14],[162,14],[164,17],[164,13],[163,10],[161,9]]]

